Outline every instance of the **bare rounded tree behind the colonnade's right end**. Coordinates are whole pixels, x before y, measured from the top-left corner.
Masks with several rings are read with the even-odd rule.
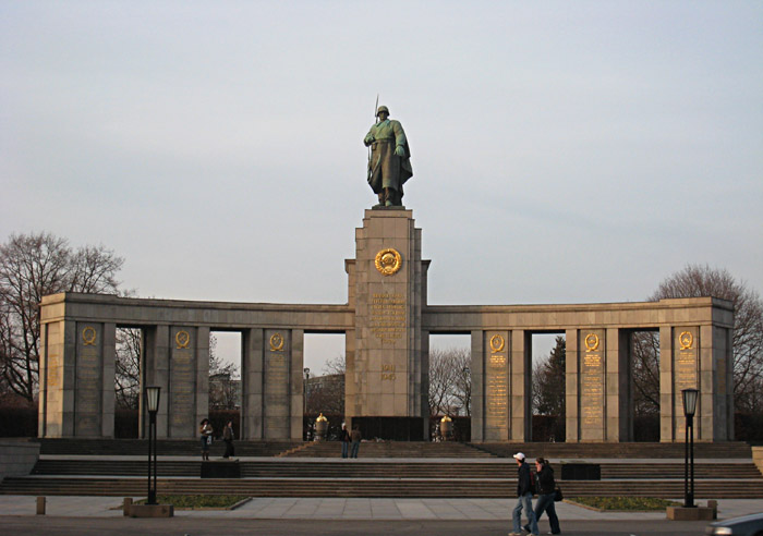
[[[763,412],[763,302],[727,270],[688,265],[665,279],[650,296],[714,296],[734,304],[734,401],[738,412]]]

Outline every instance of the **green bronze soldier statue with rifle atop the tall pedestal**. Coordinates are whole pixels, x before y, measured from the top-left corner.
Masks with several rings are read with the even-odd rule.
[[[389,109],[379,106],[377,122],[372,125],[363,143],[371,146],[368,184],[379,196],[377,207],[402,206],[402,185],[413,176],[411,149],[399,121],[389,119]]]

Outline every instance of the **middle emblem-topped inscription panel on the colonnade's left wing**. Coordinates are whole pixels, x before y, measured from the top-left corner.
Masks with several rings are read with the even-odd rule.
[[[196,435],[195,329],[170,329],[169,435]]]

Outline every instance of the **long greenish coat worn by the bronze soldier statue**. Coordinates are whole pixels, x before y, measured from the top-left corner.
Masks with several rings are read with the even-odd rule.
[[[402,197],[402,185],[413,176],[411,166],[411,149],[408,138],[399,121],[387,119],[373,125],[365,136],[371,144],[371,159],[368,160],[368,184],[374,193],[378,194],[383,188],[395,188]],[[395,148],[401,145],[405,150],[405,157],[395,154]]]

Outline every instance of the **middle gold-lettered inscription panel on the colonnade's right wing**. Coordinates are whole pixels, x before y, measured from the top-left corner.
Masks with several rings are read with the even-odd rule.
[[[604,440],[604,356],[602,329],[579,332],[578,369],[580,370],[580,439]]]

